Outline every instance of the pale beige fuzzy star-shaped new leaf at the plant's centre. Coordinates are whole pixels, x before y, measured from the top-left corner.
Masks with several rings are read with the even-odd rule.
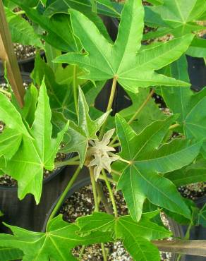
[[[99,175],[102,169],[107,169],[108,172],[111,172],[111,163],[119,159],[119,156],[116,156],[112,152],[115,152],[114,147],[109,147],[109,142],[111,136],[114,134],[115,129],[108,130],[104,134],[101,141],[99,140],[90,140],[90,155],[94,157],[88,166],[95,166],[94,175],[95,180],[99,178]]]

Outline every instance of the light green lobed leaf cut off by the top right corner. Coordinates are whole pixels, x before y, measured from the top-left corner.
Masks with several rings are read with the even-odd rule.
[[[172,33],[177,37],[195,30],[204,29],[203,26],[197,25],[195,22],[201,20],[202,14],[205,12],[205,0],[164,0],[162,5],[149,6],[147,8],[161,16],[166,24],[164,25],[164,29],[166,28],[169,31],[164,32],[164,30],[162,30],[162,35]],[[147,20],[152,24],[155,23],[154,18],[155,16],[151,16],[151,18]],[[158,32],[160,32],[160,30]],[[146,37],[148,39],[149,36],[146,35]],[[154,33],[152,37],[157,37],[157,34]]]

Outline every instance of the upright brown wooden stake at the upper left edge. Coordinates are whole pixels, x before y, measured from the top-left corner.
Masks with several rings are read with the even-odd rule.
[[[23,87],[23,80],[20,75],[16,54],[13,50],[11,33],[6,21],[2,0],[0,0],[0,59],[2,59],[2,61],[6,61],[9,83],[11,84],[13,93],[16,96],[20,107],[23,107],[25,89]]]

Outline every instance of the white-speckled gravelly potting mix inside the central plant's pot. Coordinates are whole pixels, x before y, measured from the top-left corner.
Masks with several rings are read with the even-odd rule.
[[[109,195],[107,193],[107,189],[103,186],[104,193],[107,194],[107,198]],[[126,207],[126,202],[123,200],[123,196],[121,193],[115,192],[115,187],[113,187],[114,197],[116,199],[116,205],[119,214],[126,215],[128,214],[128,209]],[[94,210],[94,200],[92,196],[92,186],[85,186],[80,188],[78,192],[75,192],[68,198],[61,207],[60,213],[63,214],[63,219],[65,221],[74,222],[75,219],[81,216],[85,216],[88,214],[92,214]],[[104,206],[102,203],[99,205],[100,210],[104,211]],[[162,215],[162,221],[165,226],[169,228],[168,220],[164,215]],[[124,249],[121,241],[116,243],[107,243],[105,244],[105,248],[108,253],[109,261],[132,261],[132,257],[128,254],[128,252]],[[79,257],[81,247],[77,247],[73,250],[73,255],[75,257]],[[169,261],[171,255],[169,253],[162,253],[162,261]],[[81,261],[96,261],[103,260],[102,259],[102,250],[99,244],[87,246],[83,252]]]

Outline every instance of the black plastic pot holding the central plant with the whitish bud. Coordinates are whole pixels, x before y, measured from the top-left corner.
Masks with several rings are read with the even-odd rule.
[[[91,183],[90,177],[88,176],[87,171],[85,171],[85,169],[83,169],[82,175],[80,175],[78,180],[74,183],[74,185],[72,186],[71,190],[68,191],[65,200],[67,198],[70,198],[71,195],[73,195],[73,193],[75,193],[78,190],[80,190],[80,188],[83,188],[84,186],[90,185],[90,183]],[[54,207],[56,206],[56,203],[58,202],[58,200],[59,199],[57,199],[54,202],[54,204],[52,205],[52,207],[49,210],[49,212],[47,212],[47,217],[46,217],[46,219],[44,221],[44,226],[42,227],[42,232],[44,232],[46,230],[47,221],[49,219],[50,214],[52,214],[52,211],[54,210]],[[178,238],[183,238],[184,231],[183,231],[183,228],[180,225],[176,224],[176,222],[174,222],[173,220],[169,219],[169,226],[171,227],[171,231],[174,232],[174,236],[176,236]],[[176,254],[172,255],[171,256],[171,261],[176,261],[177,257],[178,257],[178,255],[176,255]],[[186,261],[185,257],[181,257],[180,261]]]

